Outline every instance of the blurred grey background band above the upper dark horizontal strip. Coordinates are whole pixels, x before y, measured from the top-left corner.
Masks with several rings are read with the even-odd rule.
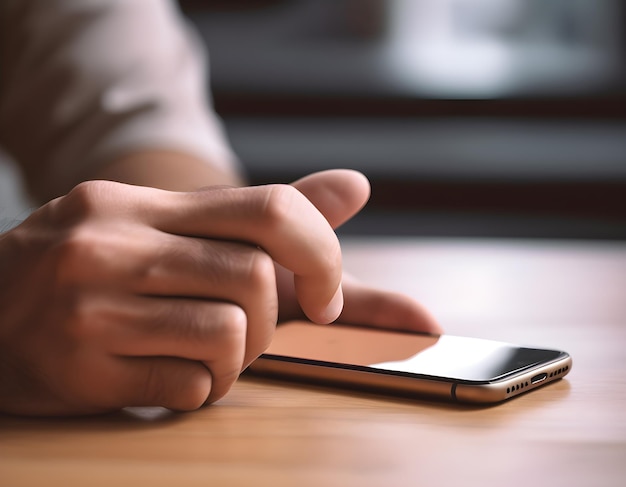
[[[284,0],[193,12],[214,86],[500,98],[623,92],[623,0]]]

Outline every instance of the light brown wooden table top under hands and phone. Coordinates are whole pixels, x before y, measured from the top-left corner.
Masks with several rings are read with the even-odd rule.
[[[0,485],[626,485],[626,244],[353,239],[346,267],[454,334],[569,351],[488,408],[242,378],[189,414],[0,417]]]

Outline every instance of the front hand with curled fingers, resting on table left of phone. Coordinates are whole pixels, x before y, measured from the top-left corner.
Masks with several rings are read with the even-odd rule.
[[[271,340],[274,262],[309,318],[337,318],[340,247],[294,188],[77,186],[0,237],[0,410],[219,399]]]

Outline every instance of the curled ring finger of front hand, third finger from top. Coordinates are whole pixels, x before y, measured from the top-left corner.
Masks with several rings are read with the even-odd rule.
[[[247,363],[271,340],[246,355],[247,317],[230,303],[190,299],[118,300],[94,318],[99,346],[120,357],[176,357],[205,364],[212,376],[209,400],[231,388]],[[247,357],[247,358],[246,358]],[[205,397],[206,399],[206,397]]]

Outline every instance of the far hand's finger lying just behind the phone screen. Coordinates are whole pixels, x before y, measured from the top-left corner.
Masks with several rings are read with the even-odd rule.
[[[344,277],[345,305],[339,321],[355,325],[377,326],[400,330],[441,334],[441,326],[414,299],[388,291],[380,291]]]

